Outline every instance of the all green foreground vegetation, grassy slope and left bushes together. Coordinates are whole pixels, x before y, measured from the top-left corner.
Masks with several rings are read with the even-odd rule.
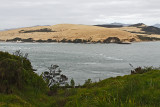
[[[87,80],[83,86],[48,88],[30,61],[0,52],[0,106],[140,107],[160,105],[160,70],[136,68],[131,75]],[[67,88],[68,87],[68,88]]]

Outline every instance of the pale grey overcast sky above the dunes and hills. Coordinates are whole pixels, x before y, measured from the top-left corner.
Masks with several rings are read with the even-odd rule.
[[[160,0],[0,0],[0,30],[71,24],[160,23]]]

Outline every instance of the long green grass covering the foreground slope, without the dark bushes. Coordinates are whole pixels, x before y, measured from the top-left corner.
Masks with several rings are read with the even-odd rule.
[[[40,107],[158,107],[160,105],[160,70],[144,74],[109,78],[86,88],[59,89],[57,94],[26,89],[14,94],[0,94],[0,104]]]

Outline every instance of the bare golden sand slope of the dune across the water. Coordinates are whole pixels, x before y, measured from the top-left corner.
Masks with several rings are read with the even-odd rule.
[[[51,32],[38,32],[40,29],[50,29]],[[31,32],[25,32],[31,31]],[[34,32],[32,32],[34,31]],[[25,33],[24,33],[25,32]],[[75,25],[75,24],[58,24],[53,26],[37,26],[20,28],[9,31],[0,32],[0,40],[8,40],[13,38],[28,39],[33,40],[74,40],[74,39],[84,39],[91,41],[102,41],[108,37],[118,37],[121,41],[130,41],[130,39],[135,39],[139,41],[138,37],[134,33],[125,31],[124,29],[114,29],[114,28],[103,28],[97,26],[88,25]]]

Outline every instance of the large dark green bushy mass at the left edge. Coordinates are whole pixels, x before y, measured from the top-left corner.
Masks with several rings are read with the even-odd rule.
[[[12,93],[25,87],[43,91],[47,89],[45,86],[42,77],[33,72],[28,59],[0,52],[0,92]]]

